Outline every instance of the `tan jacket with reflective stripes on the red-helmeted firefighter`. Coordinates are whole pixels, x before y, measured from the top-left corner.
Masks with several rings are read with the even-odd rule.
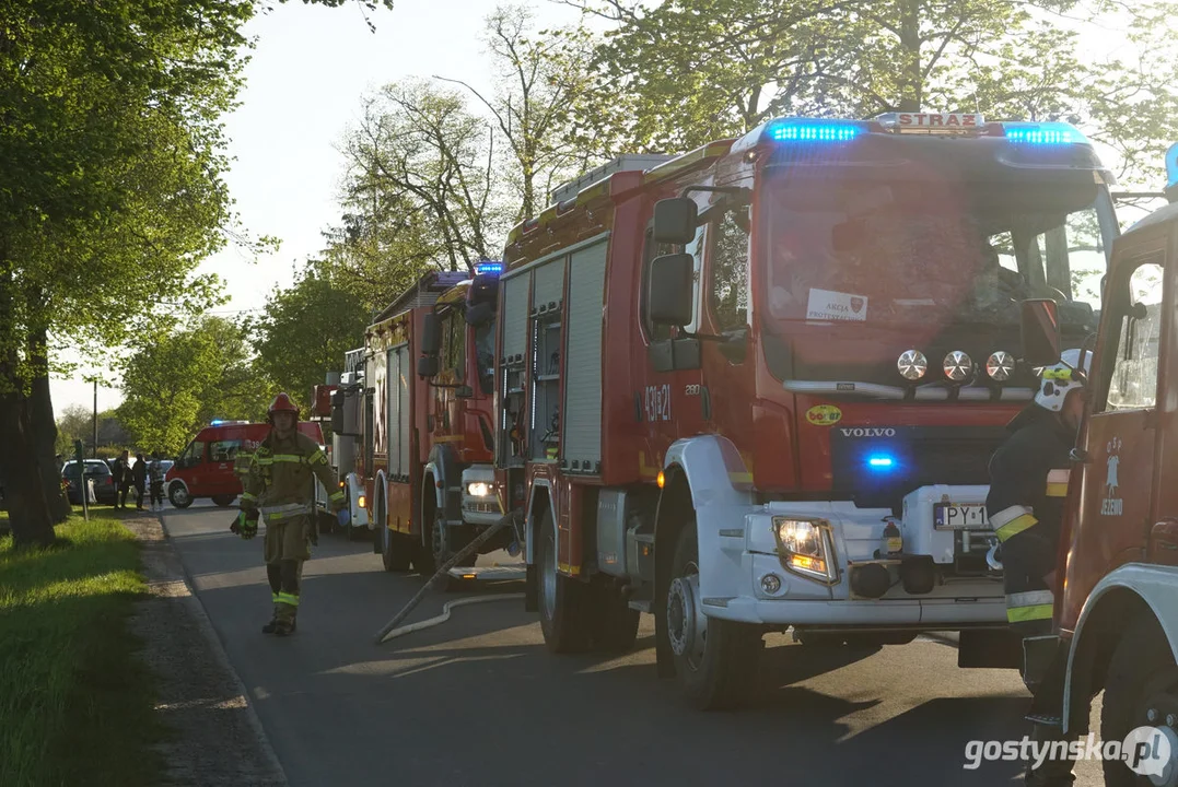
[[[312,474],[327,491],[331,509],[343,508],[344,492],[315,440],[299,432],[280,440],[271,431],[250,459],[240,508],[260,513],[267,522],[309,515],[315,505]]]

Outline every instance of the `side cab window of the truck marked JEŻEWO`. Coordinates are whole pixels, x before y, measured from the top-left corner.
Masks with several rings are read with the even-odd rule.
[[[1138,266],[1129,276],[1127,292],[1110,299],[1119,312],[1113,322],[1117,347],[1105,411],[1147,409],[1157,403],[1158,351],[1162,340],[1162,281],[1164,269],[1154,262]]]

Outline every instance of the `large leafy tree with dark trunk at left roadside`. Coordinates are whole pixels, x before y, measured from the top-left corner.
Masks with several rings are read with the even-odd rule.
[[[219,116],[258,7],[0,8],[0,478],[18,546],[53,540],[51,346],[115,346],[213,300],[192,274],[231,222]]]

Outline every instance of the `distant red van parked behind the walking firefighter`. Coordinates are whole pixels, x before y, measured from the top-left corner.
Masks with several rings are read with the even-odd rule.
[[[323,431],[312,421],[299,421],[298,431],[323,445]],[[269,423],[213,421],[176,459],[164,476],[167,499],[177,508],[187,508],[197,498],[212,498],[218,506],[230,506],[241,494],[241,480],[233,472],[239,453],[252,454],[270,434]]]

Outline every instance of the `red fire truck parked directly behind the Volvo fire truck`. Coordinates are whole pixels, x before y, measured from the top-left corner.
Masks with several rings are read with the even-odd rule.
[[[504,515],[491,465],[501,269],[425,274],[365,332],[363,372],[342,379],[333,418],[359,446],[344,481],[386,571],[432,575]],[[498,535],[481,552],[514,541]]]

